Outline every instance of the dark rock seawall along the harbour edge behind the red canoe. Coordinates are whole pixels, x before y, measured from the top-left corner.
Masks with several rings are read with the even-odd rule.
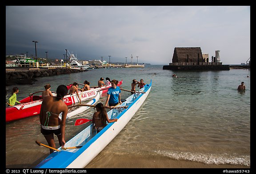
[[[28,70],[21,69],[6,69],[5,71],[5,86],[9,85],[32,85],[37,77],[46,77],[60,75],[66,73],[79,73],[88,70],[70,69],[70,68],[55,68],[55,69],[39,69],[31,68]]]

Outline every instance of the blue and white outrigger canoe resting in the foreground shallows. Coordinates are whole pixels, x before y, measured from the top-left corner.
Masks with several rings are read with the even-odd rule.
[[[93,125],[90,124],[66,142],[65,150],[59,147],[35,168],[84,168],[131,120],[148,97],[151,86],[152,80],[150,84],[145,85],[138,93],[132,94],[120,105],[128,108],[113,108],[108,112],[108,118],[117,118],[117,122],[109,123],[99,133],[96,133]]]

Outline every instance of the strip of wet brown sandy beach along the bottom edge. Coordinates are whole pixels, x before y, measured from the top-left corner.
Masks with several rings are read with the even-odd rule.
[[[248,168],[250,166],[232,164],[204,164],[187,160],[176,160],[157,155],[102,155],[93,159],[85,168]]]

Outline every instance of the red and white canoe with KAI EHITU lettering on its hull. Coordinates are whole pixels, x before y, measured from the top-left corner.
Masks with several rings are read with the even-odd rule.
[[[119,81],[117,85],[120,86],[122,85],[122,83],[123,83],[123,80]],[[81,98],[81,101],[85,101],[92,97],[95,97],[98,90],[102,91],[102,93],[106,93],[108,91],[108,88],[110,87],[111,85],[103,86],[100,88],[91,88],[88,91],[80,91],[78,94],[79,94],[79,97]],[[56,93],[53,93],[53,95],[56,96]],[[39,115],[42,101],[43,100],[41,96],[29,96],[20,100],[20,103],[22,104],[18,104],[15,106],[6,106],[5,122],[19,120],[29,116]],[[66,95],[63,101],[68,106],[71,104],[80,102],[76,93]]]

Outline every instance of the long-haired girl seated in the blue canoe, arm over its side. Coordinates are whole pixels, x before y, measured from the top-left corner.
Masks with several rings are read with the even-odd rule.
[[[110,120],[108,119],[108,113],[106,112],[106,109],[102,103],[96,104],[95,108],[97,112],[93,113],[92,124],[94,124],[97,133],[107,126],[107,122],[112,123],[118,120],[117,118]]]

